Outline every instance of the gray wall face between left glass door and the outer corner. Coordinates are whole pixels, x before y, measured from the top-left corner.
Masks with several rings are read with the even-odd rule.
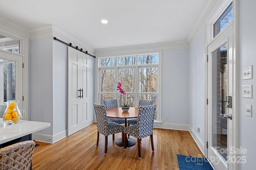
[[[52,38],[31,41],[30,49],[30,120],[49,122],[51,126],[39,131],[53,134]]]

